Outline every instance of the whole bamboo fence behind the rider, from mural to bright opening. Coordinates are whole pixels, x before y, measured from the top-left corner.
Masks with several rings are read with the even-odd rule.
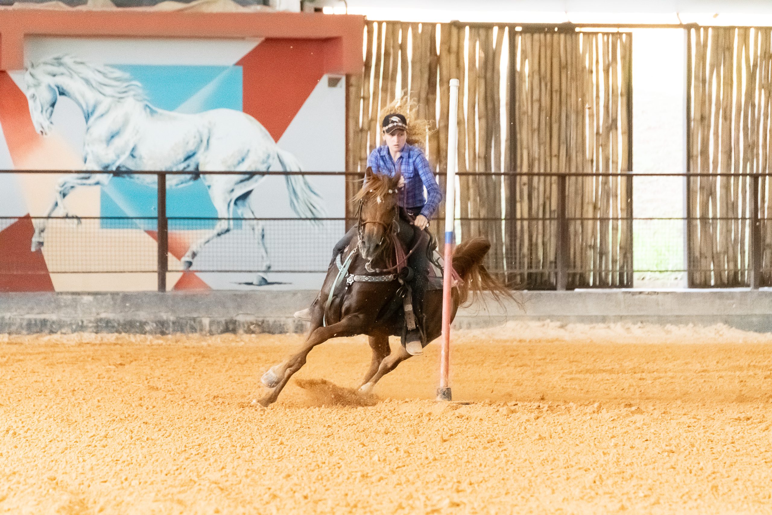
[[[498,172],[630,169],[631,35],[368,22],[364,36],[362,74],[347,83],[347,170],[364,174],[381,107],[405,95],[438,127],[425,150],[445,191],[448,84],[459,79],[457,229],[491,240],[486,264],[510,285],[554,288],[557,181]],[[357,189],[349,181],[347,199]],[[571,178],[567,214],[585,219],[570,226],[569,285],[630,286],[631,182]]]

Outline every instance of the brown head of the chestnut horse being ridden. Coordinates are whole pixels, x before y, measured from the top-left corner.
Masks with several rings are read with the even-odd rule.
[[[374,174],[367,168],[364,186],[355,197],[361,202],[359,212],[359,249],[364,259],[373,259],[388,242],[397,210],[397,186],[394,177]]]

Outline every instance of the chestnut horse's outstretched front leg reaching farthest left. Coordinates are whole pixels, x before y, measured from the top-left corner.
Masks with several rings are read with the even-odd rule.
[[[361,334],[362,320],[359,315],[350,315],[340,320],[337,324],[332,324],[327,327],[320,327],[320,320],[315,320],[317,327],[313,329],[303,347],[293,357],[290,357],[282,364],[276,365],[269,369],[266,374],[262,376],[262,384],[271,388],[268,394],[259,399],[259,404],[265,407],[272,405],[279,398],[279,394],[286,386],[289,379],[292,378],[296,371],[303,368],[306,364],[306,357],[308,353],[319,344],[323,344],[325,341],[334,337],[347,337],[354,336],[354,334]]]

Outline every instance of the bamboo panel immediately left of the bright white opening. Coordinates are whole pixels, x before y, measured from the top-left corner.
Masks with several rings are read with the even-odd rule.
[[[631,43],[620,32],[523,31],[513,39],[516,169],[615,174],[567,180],[569,287],[632,284]],[[549,287],[557,178],[523,175],[512,189],[514,268],[533,270],[520,283]]]

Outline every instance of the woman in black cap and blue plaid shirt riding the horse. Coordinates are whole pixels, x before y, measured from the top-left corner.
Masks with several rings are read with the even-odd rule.
[[[394,177],[401,174],[399,187],[401,188],[398,203],[401,207],[398,220],[398,236],[401,242],[411,251],[408,256],[408,265],[413,271],[411,290],[413,292],[413,306],[417,315],[415,329],[408,330],[405,336],[405,350],[412,356],[422,354],[422,305],[426,286],[428,285],[428,232],[425,229],[429,225],[440,202],[440,191],[434,172],[430,167],[423,151],[407,143],[408,120],[401,114],[388,114],[382,123],[384,144],[375,148],[367,158],[367,167],[372,168],[374,174],[384,174]],[[364,187],[367,186],[365,183]],[[424,195],[424,188],[428,198]],[[418,230],[416,230],[418,229]],[[333,250],[333,260],[348,246],[354,236],[357,235],[357,227],[352,227]],[[318,302],[318,299],[317,301]],[[297,318],[311,319],[310,308],[295,313]],[[428,341],[423,342],[428,344]]]

